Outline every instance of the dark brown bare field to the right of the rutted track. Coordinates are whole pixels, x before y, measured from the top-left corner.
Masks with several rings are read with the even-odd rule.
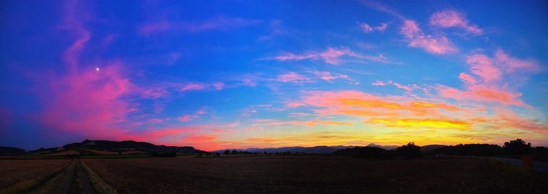
[[[545,193],[547,174],[472,158],[123,158],[84,162],[120,193]]]

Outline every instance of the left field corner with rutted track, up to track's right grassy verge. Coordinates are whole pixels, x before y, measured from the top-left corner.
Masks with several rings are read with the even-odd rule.
[[[80,160],[12,159],[0,164],[0,170],[5,170],[0,193],[114,193]]]

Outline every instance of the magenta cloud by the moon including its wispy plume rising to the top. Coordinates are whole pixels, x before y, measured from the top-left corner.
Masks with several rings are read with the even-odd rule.
[[[75,35],[62,54],[68,70],[35,73],[35,91],[42,104],[38,120],[50,130],[116,138],[128,132],[128,115],[139,110],[128,98],[141,89],[127,77],[122,61],[82,61],[80,56],[91,38],[84,23],[91,17],[77,2],[66,3],[62,29]]]

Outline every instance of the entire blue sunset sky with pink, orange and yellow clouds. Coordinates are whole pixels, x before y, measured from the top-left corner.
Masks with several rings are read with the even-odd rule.
[[[547,1],[0,1],[0,15],[1,146],[548,146]]]

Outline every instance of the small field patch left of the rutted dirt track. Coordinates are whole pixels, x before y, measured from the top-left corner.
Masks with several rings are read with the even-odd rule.
[[[0,190],[17,182],[50,174],[71,163],[69,159],[0,160]]]

